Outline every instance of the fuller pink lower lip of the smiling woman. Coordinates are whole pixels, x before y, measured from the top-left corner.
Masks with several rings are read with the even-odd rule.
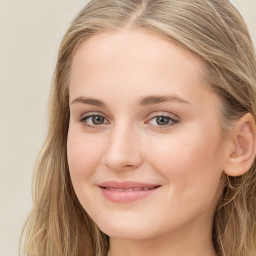
[[[103,196],[112,202],[133,202],[154,193],[158,188],[159,186],[148,190],[115,191],[100,186]]]

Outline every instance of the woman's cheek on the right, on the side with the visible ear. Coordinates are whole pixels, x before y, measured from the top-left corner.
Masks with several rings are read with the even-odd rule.
[[[151,150],[151,164],[169,183],[169,196],[178,194],[184,201],[217,196],[223,171],[218,129],[195,130],[171,134],[169,139],[154,143]]]

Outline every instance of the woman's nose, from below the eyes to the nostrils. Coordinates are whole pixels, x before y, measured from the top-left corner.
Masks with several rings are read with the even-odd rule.
[[[132,128],[115,127],[109,136],[102,163],[108,168],[120,171],[131,170],[142,163],[139,134]]]

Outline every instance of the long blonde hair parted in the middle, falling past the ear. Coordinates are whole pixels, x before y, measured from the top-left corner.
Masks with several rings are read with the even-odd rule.
[[[28,256],[105,256],[108,237],[80,205],[70,181],[66,138],[68,78],[79,43],[102,30],[143,27],[198,56],[207,86],[221,99],[224,137],[233,121],[256,119],[255,51],[242,17],[228,0],[91,0],[66,31],[49,99],[49,128],[33,179],[25,223]],[[256,255],[256,171],[225,177],[212,240],[219,256]]]

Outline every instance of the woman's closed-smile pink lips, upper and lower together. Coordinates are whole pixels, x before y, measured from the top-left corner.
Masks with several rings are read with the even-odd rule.
[[[98,184],[103,196],[113,202],[132,202],[153,193],[160,185],[135,181],[105,181]]]

